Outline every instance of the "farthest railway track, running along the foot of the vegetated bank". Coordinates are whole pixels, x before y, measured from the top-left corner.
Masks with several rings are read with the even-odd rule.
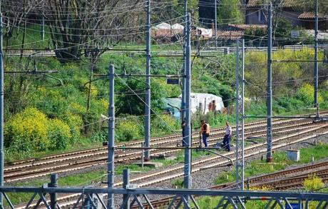
[[[282,133],[290,133],[293,131],[302,131],[309,126],[316,126],[309,120],[291,119],[277,120],[274,122],[276,128],[272,131],[275,135]],[[260,137],[266,135],[265,122],[249,123],[245,127],[245,136]],[[223,128],[216,128],[212,131],[211,137],[208,139],[210,145],[214,145],[220,136],[224,133]],[[193,137],[193,146],[198,146],[198,136]],[[219,138],[218,138],[219,137]],[[154,138],[153,146],[176,146],[177,141],[180,142],[180,136],[167,136],[163,138]],[[128,145],[120,144],[121,146],[140,146],[140,142],[132,142]],[[107,162],[107,148],[101,147],[90,149],[81,152],[64,153],[63,155],[46,156],[41,160],[28,159],[6,165],[4,170],[4,179],[6,183],[16,180],[26,180],[30,178],[38,178],[50,173],[65,173],[74,170],[91,168],[93,166],[105,165]],[[153,155],[170,154],[177,150],[153,150]],[[140,159],[141,151],[118,151],[116,153],[116,163],[127,163],[129,160]]]

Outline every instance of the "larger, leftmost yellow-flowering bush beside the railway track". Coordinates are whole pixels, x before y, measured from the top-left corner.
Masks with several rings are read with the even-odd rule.
[[[43,151],[49,145],[47,118],[36,108],[26,108],[9,118],[4,129],[5,146],[14,151]]]

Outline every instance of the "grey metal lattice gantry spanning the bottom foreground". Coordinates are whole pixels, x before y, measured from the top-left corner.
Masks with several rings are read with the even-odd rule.
[[[125,175],[128,172],[125,172]],[[292,208],[292,205],[297,204],[298,208],[327,208],[328,194],[327,193],[294,193],[294,192],[275,192],[275,191],[239,191],[239,190],[208,190],[208,189],[162,189],[162,188],[130,188],[125,185],[125,188],[93,188],[93,187],[53,187],[51,184],[38,187],[9,187],[1,186],[0,193],[4,195],[9,208],[14,209],[15,206],[11,203],[9,193],[31,193],[31,198],[26,203],[26,208],[43,206],[45,208],[61,207],[61,203],[56,198],[51,198],[47,194],[76,194],[77,200],[73,202],[73,209],[80,208],[83,200],[87,201],[91,208],[108,208],[101,198],[101,194],[123,195],[120,203],[116,202],[116,208],[130,208],[137,206],[138,208],[155,208],[156,201],[150,201],[148,195],[163,195],[170,198],[168,205],[163,208],[200,208],[195,200],[195,197],[212,197],[218,198],[218,203],[215,208],[246,208],[248,202],[257,201],[263,204],[263,208]],[[92,198],[96,196],[96,198]],[[191,200],[191,202],[188,201]],[[35,202],[36,200],[36,202]],[[52,206],[52,207],[51,207]],[[84,206],[83,206],[84,207]]]

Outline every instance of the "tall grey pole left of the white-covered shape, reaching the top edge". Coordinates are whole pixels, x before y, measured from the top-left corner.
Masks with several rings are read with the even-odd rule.
[[[147,1],[147,32],[145,38],[146,44],[146,68],[145,73],[146,75],[150,74],[150,0]],[[150,146],[150,76],[145,78],[145,82],[147,86],[145,87],[145,146]],[[145,160],[150,160],[150,151],[145,151]]]

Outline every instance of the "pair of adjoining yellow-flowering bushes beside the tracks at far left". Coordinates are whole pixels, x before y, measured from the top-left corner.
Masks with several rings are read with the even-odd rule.
[[[36,108],[26,108],[6,122],[4,144],[14,151],[46,151],[66,148],[72,133],[67,123],[49,119]]]

